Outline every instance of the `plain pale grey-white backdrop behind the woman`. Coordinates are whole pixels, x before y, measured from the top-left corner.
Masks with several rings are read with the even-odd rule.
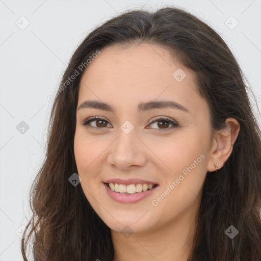
[[[222,36],[261,110],[260,0],[0,1],[0,261],[23,260],[21,229],[31,216],[29,189],[45,155],[52,106],[47,97],[58,89],[73,51],[112,16],[170,5]]]

